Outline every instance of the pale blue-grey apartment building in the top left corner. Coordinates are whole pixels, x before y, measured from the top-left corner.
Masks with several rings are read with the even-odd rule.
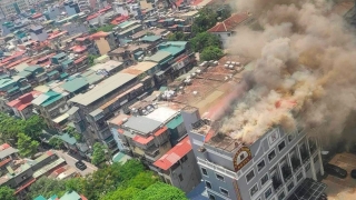
[[[29,9],[26,0],[0,1],[0,8],[7,18],[11,17],[11,16],[19,14],[19,13],[26,11],[27,9]]]

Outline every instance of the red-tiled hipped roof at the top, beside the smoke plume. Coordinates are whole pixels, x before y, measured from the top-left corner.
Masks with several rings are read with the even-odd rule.
[[[228,32],[235,29],[239,23],[247,20],[249,17],[247,13],[234,13],[222,22],[218,22],[215,27],[208,30],[208,32]]]

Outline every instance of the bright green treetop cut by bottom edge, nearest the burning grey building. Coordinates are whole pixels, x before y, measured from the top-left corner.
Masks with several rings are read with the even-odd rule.
[[[156,182],[151,184],[146,190],[138,192],[134,200],[187,200],[184,191],[179,190],[176,187]]]

